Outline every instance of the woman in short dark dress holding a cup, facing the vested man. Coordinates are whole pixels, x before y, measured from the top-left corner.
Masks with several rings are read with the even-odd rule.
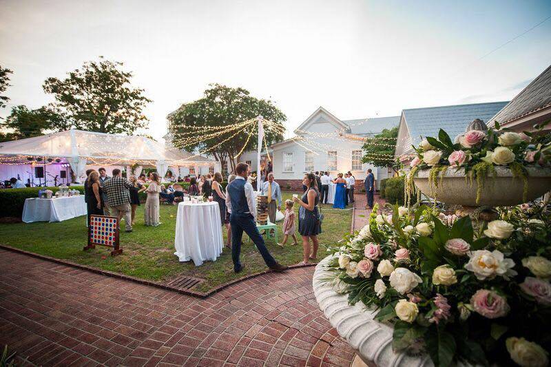
[[[302,235],[303,251],[300,265],[305,265],[310,260],[317,260],[318,234],[322,233],[322,223],[320,222],[318,209],[320,194],[314,174],[305,174],[302,185],[306,186],[302,199],[293,197],[293,201],[300,205],[298,209],[298,232]],[[312,246],[310,246],[310,240],[312,240]]]

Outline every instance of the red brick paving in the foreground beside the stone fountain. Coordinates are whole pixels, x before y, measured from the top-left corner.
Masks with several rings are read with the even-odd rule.
[[[349,366],[313,267],[205,300],[0,250],[0,345],[42,366]]]

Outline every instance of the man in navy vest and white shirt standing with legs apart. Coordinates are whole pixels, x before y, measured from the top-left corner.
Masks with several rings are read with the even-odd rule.
[[[229,224],[231,225],[233,271],[239,273],[243,269],[240,261],[243,231],[253,240],[264,262],[271,270],[284,271],[289,266],[275,261],[266,248],[266,244],[264,244],[264,238],[262,238],[262,235],[260,235],[256,228],[256,198],[254,197],[252,185],[247,182],[249,171],[247,163],[238,163],[236,166],[237,176],[226,187],[226,206],[230,213]]]

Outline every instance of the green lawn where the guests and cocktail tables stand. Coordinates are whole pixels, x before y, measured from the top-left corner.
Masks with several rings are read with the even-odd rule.
[[[284,193],[284,199],[291,198],[291,193]],[[0,243],[17,247],[32,253],[52,256],[53,258],[71,260],[79,264],[94,266],[107,271],[115,271],[145,280],[167,281],[177,275],[189,275],[205,279],[196,287],[197,291],[209,291],[216,286],[238,279],[252,273],[266,270],[266,265],[252,242],[247,242],[243,235],[241,247],[244,271],[233,273],[231,251],[224,249],[216,262],[205,262],[202,266],[194,266],[192,261],[178,262],[174,255],[174,231],[176,229],[176,206],[160,206],[159,227],[145,227],[143,224],[144,205],[136,212],[136,225],[132,233],[121,231],[121,248],[123,254],[116,257],[109,255],[110,248],[96,247],[83,251],[86,245],[87,229],[85,217],[65,220],[64,222],[48,223],[15,223],[0,224]],[[295,205],[298,212],[298,206]],[[323,205],[324,222],[319,235],[320,250],[318,258],[324,257],[324,245],[333,244],[342,235],[350,231],[352,211],[332,209],[331,205]],[[298,218],[298,216],[297,216]],[[298,229],[298,223],[296,223]],[[282,235],[282,221],[278,222],[279,240]],[[226,240],[226,229],[222,230]],[[279,247],[274,240],[267,240],[267,247],[273,257],[282,264],[296,264],[302,260],[302,242],[298,232],[299,244],[292,245],[289,238],[285,247]],[[266,238],[264,238],[266,239]]]

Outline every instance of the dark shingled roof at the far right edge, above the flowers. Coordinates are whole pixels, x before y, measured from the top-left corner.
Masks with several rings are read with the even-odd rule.
[[[551,106],[551,65],[488,120],[501,125]]]

